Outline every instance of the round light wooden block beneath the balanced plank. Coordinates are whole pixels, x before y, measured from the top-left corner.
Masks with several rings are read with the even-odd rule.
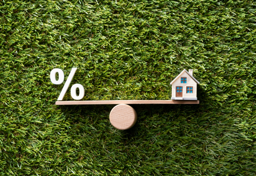
[[[118,130],[127,130],[137,121],[136,111],[129,105],[116,105],[109,115],[110,123]]]

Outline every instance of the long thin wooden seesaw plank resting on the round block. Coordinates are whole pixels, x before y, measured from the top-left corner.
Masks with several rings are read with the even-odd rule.
[[[56,101],[56,105],[117,105],[117,104],[199,104],[199,100],[89,100]]]

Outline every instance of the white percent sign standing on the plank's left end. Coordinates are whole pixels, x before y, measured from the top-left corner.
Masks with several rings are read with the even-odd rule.
[[[72,68],[70,74],[68,75],[68,79],[66,81],[66,83],[64,84],[61,92],[60,92],[60,95],[59,95],[59,98],[58,98],[58,101],[59,100],[63,100],[67,90],[68,90],[68,87],[69,87],[69,84],[71,83],[75,73],[76,73],[76,70],[77,68]],[[56,73],[59,74],[59,79],[58,81],[56,80]],[[50,79],[51,79],[51,82],[53,84],[62,84],[63,81],[64,81],[64,73],[63,71],[60,69],[60,68],[54,68],[51,73],[50,73]],[[79,89],[79,95],[77,96],[76,94],[76,89]],[[81,85],[81,84],[74,84],[71,86],[71,90],[70,90],[70,93],[71,93],[71,97],[75,100],[81,100],[82,98],[84,98],[84,87]]]

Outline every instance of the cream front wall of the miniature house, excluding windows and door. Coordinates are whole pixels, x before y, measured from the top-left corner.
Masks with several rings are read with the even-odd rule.
[[[181,84],[181,77],[187,77],[187,83]],[[174,83],[172,83],[172,97],[176,97],[176,86],[183,86],[182,97],[196,97],[197,84],[186,72],[181,74],[179,78]],[[193,93],[187,93],[187,86],[193,86]]]

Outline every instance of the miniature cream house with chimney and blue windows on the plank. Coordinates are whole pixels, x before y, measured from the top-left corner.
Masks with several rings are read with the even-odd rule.
[[[193,77],[193,69],[188,71],[184,69],[170,83],[172,85],[172,100],[197,100],[196,90],[199,82]]]

